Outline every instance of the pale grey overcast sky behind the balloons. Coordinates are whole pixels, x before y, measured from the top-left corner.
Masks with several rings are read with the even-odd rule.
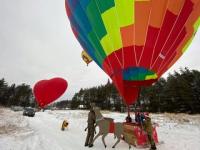
[[[187,52],[167,72],[181,67],[200,70],[200,31]],[[80,88],[105,84],[108,76],[81,59],[82,48],[72,34],[64,0],[0,0],[0,79],[9,84],[34,84],[62,77],[70,99]]]

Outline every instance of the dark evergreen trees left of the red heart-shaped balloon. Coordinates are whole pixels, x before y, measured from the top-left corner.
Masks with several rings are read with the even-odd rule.
[[[5,79],[2,78],[0,79],[0,105],[6,107],[35,107],[36,103],[33,97],[32,89],[29,85],[12,84],[9,86]]]

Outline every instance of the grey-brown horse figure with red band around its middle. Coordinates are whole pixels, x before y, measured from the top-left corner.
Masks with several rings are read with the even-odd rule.
[[[114,122],[112,118],[105,118],[100,112],[100,109],[98,107],[94,107],[94,112],[96,115],[96,126],[99,127],[99,133],[94,137],[93,142],[102,135],[102,142],[105,146],[105,137],[108,135],[108,133],[114,133],[114,136],[117,137],[116,143],[112,146],[112,148],[115,148],[115,146],[120,142],[121,137],[124,136],[124,130],[123,130],[123,123],[121,122]],[[125,140],[126,137],[124,136]],[[130,143],[129,144],[129,148]]]

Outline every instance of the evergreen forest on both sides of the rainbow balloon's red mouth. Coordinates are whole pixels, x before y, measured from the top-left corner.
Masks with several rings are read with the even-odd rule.
[[[200,113],[200,72],[180,69],[160,78],[150,87],[141,87],[139,98],[132,108],[149,112]],[[125,107],[122,97],[109,81],[106,85],[81,89],[71,101],[73,109],[80,105],[89,108],[95,102],[101,109],[121,111]]]

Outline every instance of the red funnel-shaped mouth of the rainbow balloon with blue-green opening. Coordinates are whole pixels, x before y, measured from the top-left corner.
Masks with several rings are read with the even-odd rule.
[[[137,101],[141,87],[150,86],[158,80],[156,73],[143,67],[122,69],[111,77],[127,105]]]

